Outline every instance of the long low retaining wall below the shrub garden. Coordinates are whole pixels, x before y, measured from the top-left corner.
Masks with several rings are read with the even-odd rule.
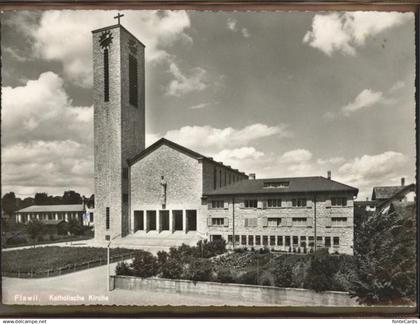
[[[264,303],[267,305],[279,306],[358,305],[346,292],[326,291],[317,293],[309,289],[252,286],[217,282],[113,276],[111,277],[111,287],[114,289],[174,293],[177,294],[176,296],[179,299],[179,305],[182,305],[182,295],[220,298],[220,300],[229,301],[230,305],[232,305],[232,301],[256,304]]]

